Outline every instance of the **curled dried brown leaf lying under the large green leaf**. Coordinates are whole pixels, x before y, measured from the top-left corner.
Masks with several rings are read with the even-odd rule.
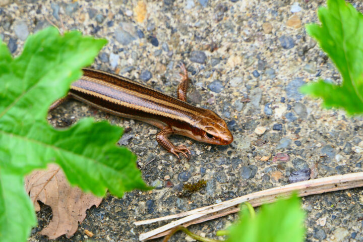
[[[49,239],[66,234],[67,238],[77,231],[78,222],[86,217],[86,210],[101,203],[102,198],[83,193],[78,187],[71,187],[62,169],[55,164],[46,170],[36,170],[25,178],[25,189],[30,193],[35,211],[40,210],[37,201],[49,205],[53,218],[40,231]]]

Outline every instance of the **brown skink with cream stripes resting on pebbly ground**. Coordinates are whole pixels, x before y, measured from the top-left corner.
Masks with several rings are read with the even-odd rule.
[[[177,98],[122,76],[85,68],[68,96],[54,102],[49,110],[71,97],[117,116],[141,120],[160,129],[157,142],[178,159],[179,154],[189,159],[191,152],[185,145],[173,145],[168,140],[172,134],[209,144],[230,144],[233,136],[220,116],[186,102],[189,78],[185,66],[180,67]]]

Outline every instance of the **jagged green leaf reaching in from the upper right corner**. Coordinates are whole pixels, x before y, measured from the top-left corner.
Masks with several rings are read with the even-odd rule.
[[[322,97],[325,107],[343,107],[347,113],[363,113],[363,15],[344,0],[328,0],[319,8],[321,26],[306,27],[330,56],[342,75],[342,84],[319,80],[302,86],[302,93]]]

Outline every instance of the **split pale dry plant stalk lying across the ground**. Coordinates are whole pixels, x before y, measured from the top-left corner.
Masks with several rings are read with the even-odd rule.
[[[238,204],[249,202],[252,206],[260,206],[261,204],[272,203],[278,197],[288,197],[293,191],[297,191],[299,197],[313,194],[321,194],[332,191],[339,191],[351,188],[363,187],[363,172],[349,173],[345,175],[334,175],[301,181],[299,183],[289,184],[282,187],[276,187],[242,197],[234,198],[222,203],[197,208],[191,211],[169,215],[161,218],[149,219],[134,222],[135,225],[149,224],[157,221],[163,221],[172,218],[181,218],[172,221],[164,226],[140,234],[140,240],[156,238],[167,234],[171,229],[183,225],[188,226],[197,222],[202,222],[227,214],[239,211]]]

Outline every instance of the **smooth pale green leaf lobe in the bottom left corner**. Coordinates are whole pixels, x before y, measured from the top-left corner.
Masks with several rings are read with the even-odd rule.
[[[24,178],[0,170],[0,241],[25,241],[36,223]]]

